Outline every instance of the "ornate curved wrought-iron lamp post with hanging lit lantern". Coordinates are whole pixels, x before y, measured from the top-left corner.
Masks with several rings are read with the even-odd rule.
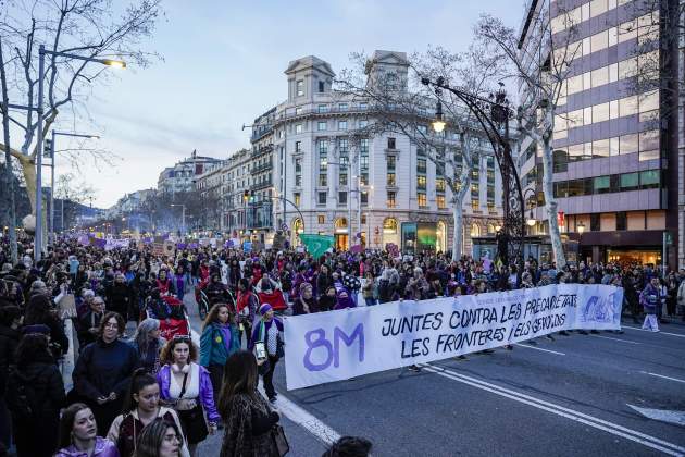
[[[444,77],[438,77],[435,81],[422,77],[421,83],[433,87],[438,99],[436,119],[433,122],[433,128],[436,132],[441,132],[446,125],[440,96],[443,90],[448,90],[466,106],[487,134],[502,176],[502,207],[505,212],[502,238],[506,240],[503,243],[506,252],[502,258],[505,263],[508,263],[509,252],[511,252],[513,261],[519,265],[518,274],[520,275],[523,269],[522,248],[525,234],[525,209],[521,182],[519,181],[509,144],[509,120],[513,118],[514,112],[509,106],[503,84],[500,83],[500,89],[496,94],[490,95],[490,99],[484,99],[465,90],[450,87]]]

